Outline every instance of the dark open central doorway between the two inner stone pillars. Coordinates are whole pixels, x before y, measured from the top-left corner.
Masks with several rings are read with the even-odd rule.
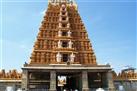
[[[57,91],[82,91],[81,73],[57,73]]]

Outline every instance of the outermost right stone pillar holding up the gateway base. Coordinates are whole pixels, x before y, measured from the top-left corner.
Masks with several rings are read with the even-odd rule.
[[[113,83],[113,77],[112,77],[112,71],[107,72],[107,86],[109,91],[114,91],[114,83]]]

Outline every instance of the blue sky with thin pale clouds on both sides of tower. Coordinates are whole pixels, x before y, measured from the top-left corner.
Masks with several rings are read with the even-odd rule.
[[[137,68],[136,1],[76,0],[98,64],[111,64],[117,72]],[[0,61],[2,68],[21,70],[29,61],[47,0],[1,2]]]

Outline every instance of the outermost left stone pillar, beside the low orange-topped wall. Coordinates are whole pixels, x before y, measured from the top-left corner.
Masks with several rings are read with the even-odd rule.
[[[24,70],[23,69],[23,72],[22,72],[22,84],[21,84],[22,91],[28,91],[28,82],[29,82],[28,70]]]

